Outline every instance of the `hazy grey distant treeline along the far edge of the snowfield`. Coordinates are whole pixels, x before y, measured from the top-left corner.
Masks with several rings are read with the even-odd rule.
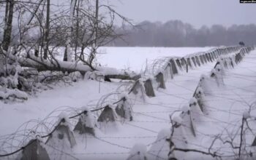
[[[122,26],[116,32],[123,33],[123,39],[116,39],[110,46],[116,47],[206,47],[220,45],[256,44],[256,25],[203,25],[196,29],[181,20],[170,20],[167,23],[144,21],[138,27]]]

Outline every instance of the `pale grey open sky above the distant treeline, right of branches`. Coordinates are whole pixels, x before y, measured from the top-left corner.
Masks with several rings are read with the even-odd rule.
[[[196,28],[202,25],[256,23],[256,4],[239,0],[109,0],[118,12],[134,20],[152,22],[182,20]]]

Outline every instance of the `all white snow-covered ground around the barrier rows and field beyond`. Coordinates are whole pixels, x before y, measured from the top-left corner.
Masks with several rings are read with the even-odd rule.
[[[212,47],[103,47],[100,49],[102,54],[99,55],[99,63],[118,69],[129,68],[131,71],[140,72],[142,68],[145,68],[146,61],[166,56],[184,56],[208,49],[212,49]],[[128,159],[129,155],[138,150],[142,154],[145,153],[148,159],[167,159],[170,148],[165,137],[170,135],[170,114],[176,115],[176,113],[186,110],[189,103],[193,103],[193,94],[201,75],[204,74],[206,75],[206,90],[203,103],[206,113],[193,115],[195,116],[193,120],[195,121],[195,135],[192,134],[191,129],[184,126],[177,131],[178,134],[174,132],[176,134],[174,143],[178,148],[193,148],[205,152],[211,150],[211,153],[215,151],[222,153],[225,159],[236,159],[238,150],[233,153],[230,144],[223,143],[223,141],[233,140],[234,135],[240,134],[243,114],[248,118],[256,116],[255,60],[256,51],[252,51],[248,55],[246,54],[244,60],[234,68],[225,68],[221,77],[217,79],[210,78],[216,61],[200,67],[189,68],[189,73],[179,70],[174,79],[165,75],[166,89],[155,88],[156,97],[129,97],[129,103],[132,104],[132,121],[120,120],[111,124],[97,124],[96,137],[79,135],[75,132],[77,145],[69,150],[62,148],[65,153],[61,148],[49,149],[47,145],[45,148],[48,148],[49,156],[52,159]],[[58,121],[60,113],[64,112],[67,116],[73,116],[83,106],[91,109],[103,107],[99,105],[102,96],[116,92],[127,94],[127,90],[123,86],[128,84],[129,81],[102,81],[99,83],[83,79],[71,86],[56,84],[54,89],[40,92],[36,97],[29,97],[29,100],[23,103],[5,104],[0,101],[0,140],[2,142],[8,139],[5,135],[10,136],[11,133],[16,133],[18,134],[16,138],[19,140],[12,139],[12,143],[27,143],[28,140],[23,137],[31,135],[32,127],[45,125],[39,128],[44,130],[42,135],[45,135],[45,128],[48,128],[50,132]],[[114,103],[118,98],[119,95],[110,95],[108,103]],[[246,114],[248,111],[251,115]],[[94,116],[99,116],[99,113],[94,112]],[[30,122],[26,123],[27,121]],[[70,121],[71,126],[74,127],[77,121],[78,119]],[[248,121],[250,129],[244,129],[248,144],[252,143],[256,135],[255,123],[255,121]],[[13,135],[9,138],[12,137]],[[239,138],[234,138],[233,144],[239,145],[239,140]],[[143,145],[138,145],[137,148],[134,148],[135,152],[131,153],[131,149],[137,143]],[[209,150],[209,148],[211,149]],[[245,145],[244,148],[249,148],[249,146]],[[3,148],[0,147],[1,149]],[[10,150],[15,151],[17,148],[4,149],[9,152]],[[247,151],[255,153],[256,148],[249,148]],[[244,159],[249,159],[245,156],[246,153],[241,154],[244,155]],[[175,156],[177,159],[215,159],[212,156],[195,152],[175,151]],[[9,158],[15,159],[15,156]],[[133,158],[130,157],[130,159]]]

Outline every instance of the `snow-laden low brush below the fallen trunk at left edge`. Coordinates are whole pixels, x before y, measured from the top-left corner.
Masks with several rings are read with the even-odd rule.
[[[5,103],[10,100],[27,100],[28,95],[49,89],[49,84],[59,81],[70,84],[83,78],[78,71],[72,73],[62,71],[39,72],[37,68],[24,68],[20,65],[21,57],[13,55],[11,49],[8,52],[3,49],[0,51],[0,100],[4,100]]]

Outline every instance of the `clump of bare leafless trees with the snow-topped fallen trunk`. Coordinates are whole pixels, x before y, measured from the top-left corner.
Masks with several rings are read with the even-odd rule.
[[[113,25],[116,16],[128,22],[113,8],[105,4],[99,4],[98,0],[95,1],[95,4],[86,0],[73,0],[68,12],[67,9],[54,6],[50,0],[15,1],[15,3],[12,0],[4,2],[7,4],[7,14],[4,19],[7,27],[4,31],[2,47],[7,50],[11,43],[12,15],[15,4],[19,10],[17,14],[20,41],[17,41],[17,43],[20,48],[16,52],[18,53],[18,62],[23,67],[36,68],[37,71],[104,72],[105,69],[99,66],[96,61],[97,49],[121,36],[115,32]],[[51,8],[51,5],[54,7]],[[105,7],[108,11],[99,14],[101,7]],[[54,8],[56,11],[53,11]],[[73,24],[76,24],[75,28]],[[33,38],[26,36],[31,31],[37,33],[33,35]],[[67,39],[67,41],[64,41],[64,39]],[[71,61],[71,54],[73,54],[71,46],[73,44],[75,44],[75,62],[65,63],[56,58],[56,54],[63,55],[63,52],[59,52],[58,49],[65,45],[64,59]],[[78,47],[81,47],[80,52],[77,52]],[[1,54],[7,56],[6,52],[1,52]],[[80,57],[79,60],[78,57]],[[12,56],[8,58],[16,59]],[[134,75],[130,76],[127,73],[116,72],[116,70],[113,70],[113,73],[109,75],[105,74],[105,76],[118,79],[135,79]],[[138,76],[136,76],[136,79],[138,79]]]

